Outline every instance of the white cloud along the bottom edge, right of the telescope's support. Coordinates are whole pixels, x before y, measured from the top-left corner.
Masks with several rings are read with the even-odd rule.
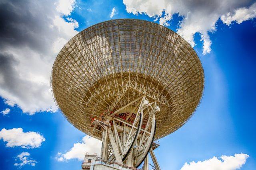
[[[199,162],[186,162],[180,170],[237,170],[245,164],[248,154],[235,154],[234,156],[221,156]]]

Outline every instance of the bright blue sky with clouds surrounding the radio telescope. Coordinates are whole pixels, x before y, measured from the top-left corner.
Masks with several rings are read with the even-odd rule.
[[[50,92],[52,64],[79,31],[101,21],[136,18],[178,32],[194,45],[204,68],[198,109],[183,127],[159,140],[155,153],[161,168],[214,170],[207,167],[212,164],[254,170],[256,3],[197,3],[1,1],[0,169],[80,169],[81,154],[97,150],[100,143],[85,137],[57,110]],[[230,156],[233,168],[224,165],[222,155]]]

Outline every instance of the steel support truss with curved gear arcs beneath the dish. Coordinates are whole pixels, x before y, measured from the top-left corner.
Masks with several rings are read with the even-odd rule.
[[[156,132],[155,113],[160,111],[156,102],[149,103],[146,96],[138,100],[133,112],[126,112],[120,116],[105,116],[102,120],[106,124],[102,138],[102,158],[113,160],[127,166],[138,167],[146,158]],[[124,106],[127,109],[130,104]],[[113,113],[112,113],[113,114]],[[134,121],[126,121],[132,115]],[[143,125],[143,117],[147,117]]]

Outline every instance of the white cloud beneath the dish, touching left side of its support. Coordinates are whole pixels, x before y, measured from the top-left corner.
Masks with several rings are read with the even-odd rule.
[[[58,161],[66,161],[70,159],[84,160],[85,153],[97,153],[99,155],[101,149],[101,141],[86,135],[80,143],[75,143],[74,146],[66,153],[58,152],[56,159]]]

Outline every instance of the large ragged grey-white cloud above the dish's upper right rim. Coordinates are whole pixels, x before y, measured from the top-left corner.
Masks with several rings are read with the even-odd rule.
[[[219,18],[230,25],[233,21],[242,23],[256,17],[256,3],[252,0],[123,0],[126,11],[132,14],[146,14],[168,26],[174,14],[182,16],[177,29],[186,41],[194,47],[194,35],[200,33],[203,54],[210,53],[212,41],[209,32],[216,31]]]

